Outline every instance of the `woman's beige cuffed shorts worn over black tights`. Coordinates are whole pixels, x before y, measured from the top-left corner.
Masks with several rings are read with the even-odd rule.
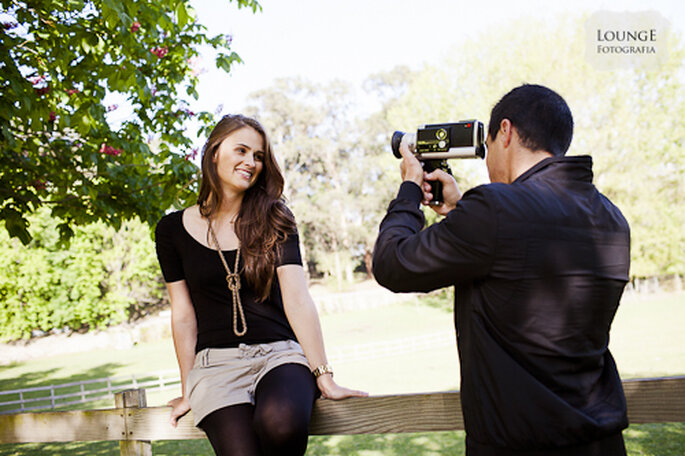
[[[302,347],[294,340],[199,351],[186,379],[195,426],[220,408],[254,404],[255,389],[262,377],[290,363],[309,368]]]

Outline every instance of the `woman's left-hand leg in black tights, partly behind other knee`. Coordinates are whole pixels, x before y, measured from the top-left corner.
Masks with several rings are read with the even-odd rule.
[[[200,421],[217,456],[261,456],[252,424],[252,404],[238,404],[215,410]]]

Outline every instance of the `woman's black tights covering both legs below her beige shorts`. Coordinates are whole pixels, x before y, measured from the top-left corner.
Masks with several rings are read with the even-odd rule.
[[[259,381],[254,406],[216,410],[199,427],[218,456],[301,456],[307,450],[316,391],[307,367],[284,364]]]

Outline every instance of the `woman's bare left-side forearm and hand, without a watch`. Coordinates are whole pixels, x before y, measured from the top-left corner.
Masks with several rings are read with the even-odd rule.
[[[195,309],[190,299],[185,280],[167,283],[169,300],[171,301],[171,334],[176,349],[176,359],[181,372],[181,390],[183,395],[169,401],[171,409],[171,425],[176,426],[180,417],[188,413],[190,403],[186,391],[188,372],[195,362],[195,344],[197,343],[197,320]]]

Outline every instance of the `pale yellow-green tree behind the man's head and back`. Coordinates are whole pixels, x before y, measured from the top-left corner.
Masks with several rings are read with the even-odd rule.
[[[631,275],[683,274],[683,44],[671,35],[669,61],[659,68],[611,71],[593,68],[585,45],[582,17],[501,27],[451,50],[439,66],[422,68],[388,108],[388,122],[415,128],[474,117],[487,121],[512,88],[524,82],[551,87],[573,111],[569,154],[592,155],[595,183],[630,223]],[[474,164],[484,168],[460,161],[452,169],[473,184],[464,171]]]

